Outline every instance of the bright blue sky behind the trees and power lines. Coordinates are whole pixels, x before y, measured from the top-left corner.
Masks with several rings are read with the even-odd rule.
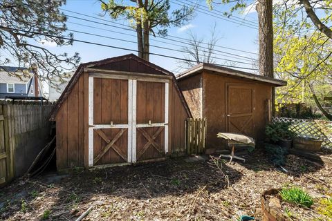
[[[129,1],[129,0],[124,0]],[[179,8],[181,6],[178,6],[178,4],[183,5],[183,3],[186,3],[187,6],[192,4],[192,1],[194,0],[171,0],[171,10],[174,8]],[[216,33],[220,37],[220,40],[218,41],[218,46],[216,47],[216,50],[219,50],[219,52],[216,52],[217,55],[214,55],[214,57],[217,57],[219,59],[216,59],[217,64],[228,64],[232,66],[242,66],[246,68],[252,68],[252,61],[250,61],[250,58],[257,58],[257,55],[252,53],[257,53],[258,51],[258,45],[256,43],[257,36],[258,36],[258,30],[255,28],[249,28],[247,26],[243,26],[243,19],[245,23],[251,22],[252,26],[257,26],[257,15],[255,12],[252,12],[248,15],[241,15],[238,13],[235,13],[234,16],[237,16],[239,18],[237,21],[234,21],[232,19],[228,19],[227,17],[222,17],[221,12],[228,11],[229,6],[225,5],[216,5],[214,7],[214,10],[212,12],[207,11],[208,8],[206,7],[205,0],[200,0],[199,4],[201,4],[203,7],[199,7],[199,10],[196,11],[196,16],[192,21],[189,21],[187,24],[185,24],[182,27],[171,27],[168,30],[168,35],[171,40],[167,39],[160,39],[158,37],[150,37],[150,52],[160,54],[160,55],[167,55],[170,57],[181,57],[183,58],[183,52],[179,51],[182,50],[181,46],[184,44],[182,42],[178,41],[185,41],[183,39],[173,38],[173,37],[181,37],[181,38],[189,38],[189,33],[192,32],[194,35],[197,35],[197,37],[201,37],[204,39],[204,41],[208,41],[210,39],[210,30],[216,25]],[[129,48],[136,50],[136,32],[131,30],[123,30],[121,28],[129,28],[127,27],[128,21],[121,19],[119,21],[115,21],[116,23],[111,23],[110,21],[113,21],[109,15],[105,15],[104,17],[100,17],[100,14],[102,13],[102,10],[100,8],[99,1],[96,0],[67,0],[67,3],[65,6],[62,7],[62,9],[66,10],[64,13],[68,16],[67,26],[69,30],[78,30],[80,32],[89,32],[93,33],[94,35],[101,35],[104,37],[97,37],[97,36],[91,36],[86,35],[82,33],[74,33],[74,39],[80,39],[84,41],[92,41],[98,44],[106,44],[109,46],[118,46],[122,48]],[[69,11],[73,12],[69,12]],[[74,12],[79,12],[87,16],[92,17],[99,17],[100,19],[104,19],[106,21],[100,20],[100,19],[93,19],[91,17],[86,17],[84,15],[78,15]],[[211,16],[212,15],[212,16]],[[73,17],[80,17],[83,19],[86,19],[86,21],[83,21],[82,19],[75,19]],[[248,21],[247,21],[248,20]],[[93,23],[91,21],[95,21],[97,23]],[[233,22],[232,22],[233,21]],[[234,23],[236,22],[236,23]],[[103,25],[102,23],[106,24]],[[256,24],[255,24],[256,23]],[[82,26],[84,25],[84,26]],[[91,27],[86,27],[91,26]],[[116,28],[120,27],[120,28]],[[122,32],[125,35],[119,34],[117,32]],[[132,36],[129,36],[132,35]],[[113,38],[113,39],[110,39]],[[117,39],[123,39],[128,41],[133,41],[133,43],[130,42],[124,42],[119,41]],[[157,41],[155,41],[157,40]],[[161,42],[160,42],[161,41]],[[176,44],[176,46],[171,45]],[[46,48],[49,48],[50,50],[53,50],[55,52],[68,52],[69,55],[73,55],[74,52],[79,52],[80,57],[82,59],[82,62],[88,62],[88,61],[95,61],[99,59],[105,59],[109,57],[115,57],[119,55],[126,55],[131,53],[131,51],[128,50],[120,50],[115,48],[107,48],[104,46],[95,46],[95,45],[89,45],[84,44],[80,42],[74,42],[73,46],[65,46],[62,48],[57,47],[54,43],[50,43],[48,41],[44,42],[44,46]],[[163,48],[155,48],[154,46],[163,47],[163,48],[171,48],[174,50],[167,50]],[[227,47],[227,48],[221,48],[221,47]],[[230,50],[228,48],[234,48],[236,50]],[[242,50],[242,51],[238,51]],[[248,51],[248,52],[243,52]],[[137,54],[136,52],[133,52],[134,54]],[[234,55],[230,55],[227,53],[231,53]],[[243,58],[248,57],[249,59]],[[248,64],[240,64],[240,63],[234,63],[232,61],[225,61],[224,59],[228,60],[236,60],[240,62],[246,62]],[[243,61],[244,60],[244,61]],[[174,73],[179,73],[183,71],[184,69],[178,68],[181,66],[181,63],[179,63],[179,60],[177,59],[171,59],[171,58],[165,58],[160,57],[157,55],[151,55],[150,61],[158,66],[161,66],[167,70],[170,70]],[[252,72],[253,70],[248,70],[248,72]]]

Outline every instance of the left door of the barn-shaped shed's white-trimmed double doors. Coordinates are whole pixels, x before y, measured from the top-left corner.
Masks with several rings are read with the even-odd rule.
[[[93,81],[93,165],[128,160],[128,80]]]

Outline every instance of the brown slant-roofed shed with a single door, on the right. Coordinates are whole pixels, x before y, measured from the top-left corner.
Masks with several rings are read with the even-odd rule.
[[[286,81],[213,64],[199,64],[177,77],[195,118],[207,120],[206,148],[223,148],[219,132],[243,133],[264,140],[273,88]]]

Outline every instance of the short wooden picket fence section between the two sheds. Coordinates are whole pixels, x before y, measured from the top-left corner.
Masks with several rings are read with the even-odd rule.
[[[185,121],[185,147],[187,154],[200,154],[205,151],[206,119],[188,118]]]

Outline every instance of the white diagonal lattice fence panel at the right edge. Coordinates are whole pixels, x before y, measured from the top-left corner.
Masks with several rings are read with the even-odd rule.
[[[332,148],[332,122],[287,117],[274,117],[273,122],[291,122],[291,131],[299,137],[313,137],[322,140],[322,146]]]

